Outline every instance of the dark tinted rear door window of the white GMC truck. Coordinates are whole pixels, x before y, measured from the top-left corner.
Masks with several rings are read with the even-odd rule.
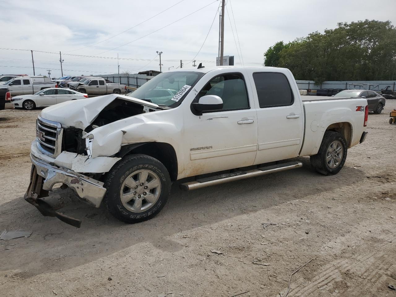
[[[253,73],[260,108],[293,105],[289,81],[283,73]]]

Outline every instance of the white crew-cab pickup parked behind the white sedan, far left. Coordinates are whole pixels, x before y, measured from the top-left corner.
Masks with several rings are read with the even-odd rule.
[[[16,96],[34,94],[42,89],[55,88],[55,82],[51,82],[50,78],[42,78],[41,81],[36,82],[31,77],[16,77],[6,82],[4,86],[10,89],[12,96]]]

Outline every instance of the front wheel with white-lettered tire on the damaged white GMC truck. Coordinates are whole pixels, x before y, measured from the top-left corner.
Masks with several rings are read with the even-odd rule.
[[[110,213],[125,223],[153,218],[165,206],[171,188],[168,170],[144,154],[126,156],[105,179],[105,204]]]

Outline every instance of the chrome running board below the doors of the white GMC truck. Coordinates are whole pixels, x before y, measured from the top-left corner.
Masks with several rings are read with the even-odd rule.
[[[180,184],[180,188],[185,191],[190,191],[190,190],[209,187],[213,185],[228,183],[229,181],[238,181],[240,179],[247,179],[249,177],[256,177],[260,175],[286,171],[289,169],[295,169],[300,167],[303,167],[303,163],[301,162],[287,162],[287,163],[270,165],[270,166],[265,166],[247,171],[225,173],[212,177],[197,179],[196,181],[189,181],[187,183]]]

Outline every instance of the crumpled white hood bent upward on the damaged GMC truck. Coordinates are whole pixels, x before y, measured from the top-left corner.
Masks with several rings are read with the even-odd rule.
[[[74,127],[84,130],[95,120],[97,115],[116,98],[155,109],[159,108],[158,105],[141,99],[110,94],[52,105],[43,109],[40,116],[46,120],[60,123],[63,128]]]

